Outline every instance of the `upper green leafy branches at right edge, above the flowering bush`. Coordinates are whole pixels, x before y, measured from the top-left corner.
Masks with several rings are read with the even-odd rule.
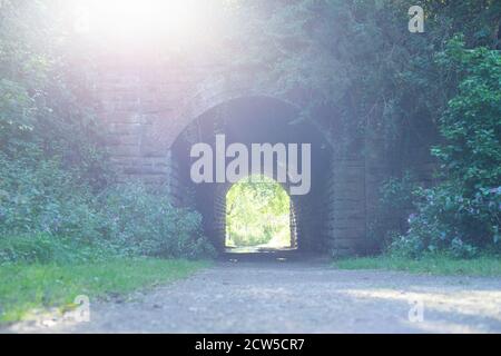
[[[439,125],[446,144],[433,155],[448,179],[460,180],[468,192],[495,187],[501,182],[501,55],[468,50],[455,38],[438,60],[460,82]]]

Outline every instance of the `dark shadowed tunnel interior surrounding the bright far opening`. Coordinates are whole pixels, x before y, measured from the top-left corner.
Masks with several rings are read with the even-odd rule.
[[[291,247],[297,251],[324,251],[327,241],[323,234],[323,190],[331,178],[332,157],[332,147],[324,132],[310,120],[301,120],[298,109],[289,103],[267,97],[247,97],[213,107],[194,118],[177,137],[170,148],[177,172],[173,194],[178,204],[194,207],[202,214],[204,234],[223,253],[227,248],[226,196],[232,184],[195,184],[190,177],[196,160],[190,157],[193,145],[205,142],[215,148],[217,135],[225,136],[226,147],[234,142],[247,147],[253,144],[311,145],[310,192],[291,195],[291,185],[284,184],[291,197]]]

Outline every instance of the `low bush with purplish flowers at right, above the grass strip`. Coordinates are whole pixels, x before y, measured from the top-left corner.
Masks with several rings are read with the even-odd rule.
[[[442,184],[416,192],[418,214],[409,218],[409,231],[391,247],[411,257],[445,250],[455,257],[473,257],[479,249],[499,250],[501,188],[480,189],[472,198]]]

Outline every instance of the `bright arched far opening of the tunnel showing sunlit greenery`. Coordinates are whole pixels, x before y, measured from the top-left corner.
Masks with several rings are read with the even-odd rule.
[[[286,189],[266,176],[249,176],[226,194],[227,253],[293,250],[296,231]]]

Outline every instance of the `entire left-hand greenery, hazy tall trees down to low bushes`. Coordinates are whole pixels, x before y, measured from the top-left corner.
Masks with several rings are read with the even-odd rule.
[[[66,2],[0,2],[0,263],[210,255],[198,214],[114,184]]]

